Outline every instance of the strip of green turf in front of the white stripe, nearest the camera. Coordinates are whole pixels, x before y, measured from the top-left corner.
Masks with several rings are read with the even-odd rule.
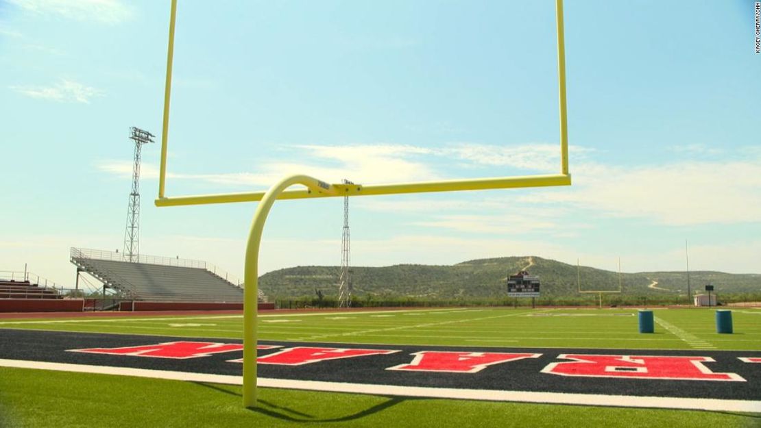
[[[0,426],[759,426],[725,412],[419,400],[260,388],[259,410],[240,387],[126,376],[0,368]]]

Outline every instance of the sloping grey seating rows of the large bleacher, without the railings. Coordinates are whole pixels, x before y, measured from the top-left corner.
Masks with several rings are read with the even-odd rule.
[[[205,268],[119,262],[72,255],[81,271],[127,298],[163,302],[242,302],[243,290]]]

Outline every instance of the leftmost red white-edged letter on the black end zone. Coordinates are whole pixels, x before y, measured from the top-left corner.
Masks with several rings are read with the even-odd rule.
[[[277,346],[259,345],[258,349],[270,349]],[[242,350],[242,344],[220,344],[215,342],[167,342],[164,344],[135,347],[94,347],[90,349],[70,349],[71,352],[106,353],[108,355],[129,355],[131,357],[187,358],[209,357],[214,353]]]

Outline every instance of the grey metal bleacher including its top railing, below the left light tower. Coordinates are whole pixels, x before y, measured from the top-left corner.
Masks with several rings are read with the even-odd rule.
[[[243,289],[230,275],[199,260],[140,255],[129,262],[119,252],[72,248],[71,262],[133,300],[243,301]],[[266,301],[261,293],[259,298]]]

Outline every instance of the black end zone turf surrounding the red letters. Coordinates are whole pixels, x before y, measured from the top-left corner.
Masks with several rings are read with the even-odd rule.
[[[204,341],[240,344],[240,340],[220,338],[177,338],[167,336],[75,333],[0,329],[0,359],[27,360],[49,363],[69,363],[89,366],[128,367],[184,373],[241,376],[242,365],[231,362],[242,357],[242,351],[216,353],[209,357],[169,359],[70,352],[84,348],[113,348],[161,344],[175,341]],[[260,350],[260,357],[281,352],[289,347],[336,347],[374,350],[396,350],[383,355],[368,355],[337,360],[323,360],[300,366],[260,364],[260,378],[292,381],[351,383],[356,385],[396,385],[401,387],[454,388],[484,392],[537,392],[583,395],[650,398],[699,398],[713,400],[749,401],[761,412],[761,351],[724,350],[600,350],[556,348],[495,348],[441,347],[428,345],[375,345],[261,341],[274,345]],[[477,373],[415,372],[389,369],[406,365],[422,351],[458,351],[487,353],[538,353],[539,357],[524,358],[488,366]],[[740,381],[716,382],[674,379],[620,379],[600,377],[556,376],[543,373],[552,363],[568,362],[562,354],[630,355],[630,356],[689,356],[709,357],[703,363],[713,373],[736,373]]]

